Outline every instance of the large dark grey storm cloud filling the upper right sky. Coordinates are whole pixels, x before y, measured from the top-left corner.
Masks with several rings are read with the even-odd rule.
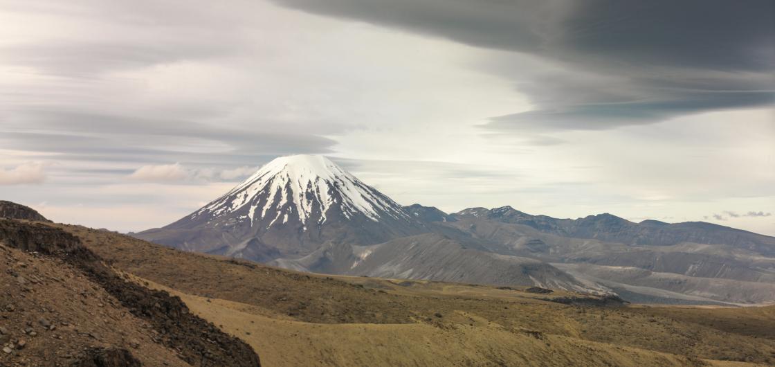
[[[493,118],[494,130],[601,130],[775,101],[771,0],[275,2],[564,65],[481,64],[536,106]]]

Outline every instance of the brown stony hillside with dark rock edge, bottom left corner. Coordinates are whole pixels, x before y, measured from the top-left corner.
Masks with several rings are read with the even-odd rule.
[[[64,230],[0,219],[0,244],[0,365],[259,365],[243,341]]]

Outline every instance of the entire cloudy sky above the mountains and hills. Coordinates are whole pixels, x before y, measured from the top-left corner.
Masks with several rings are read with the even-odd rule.
[[[286,154],[398,203],[775,235],[775,3],[0,0],[0,199],[136,231]]]

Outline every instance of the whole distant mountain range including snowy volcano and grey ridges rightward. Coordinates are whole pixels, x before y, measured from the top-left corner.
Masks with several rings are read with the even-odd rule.
[[[541,286],[646,303],[775,302],[775,237],[711,223],[401,206],[328,158],[277,158],[194,213],[134,234],[306,272]]]

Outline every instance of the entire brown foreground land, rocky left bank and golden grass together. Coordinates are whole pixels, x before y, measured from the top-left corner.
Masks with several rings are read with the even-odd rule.
[[[316,275],[0,224],[0,365],[255,365],[253,351],[263,365],[775,364],[773,306]]]

